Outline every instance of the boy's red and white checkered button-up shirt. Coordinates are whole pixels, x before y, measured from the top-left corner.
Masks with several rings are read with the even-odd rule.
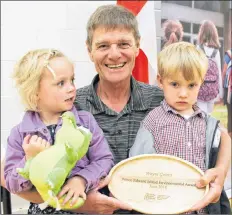
[[[205,171],[206,114],[196,105],[193,110],[192,116],[186,119],[164,100],[142,124],[153,134],[157,153],[180,157]],[[206,213],[206,210],[198,213]]]

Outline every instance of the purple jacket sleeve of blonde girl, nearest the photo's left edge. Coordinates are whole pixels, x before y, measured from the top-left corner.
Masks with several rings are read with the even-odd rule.
[[[19,193],[32,188],[32,183],[20,176],[16,171],[17,168],[23,168],[26,161],[22,141],[23,137],[18,131],[18,126],[16,126],[11,130],[10,136],[7,139],[4,167],[6,188],[11,193]]]

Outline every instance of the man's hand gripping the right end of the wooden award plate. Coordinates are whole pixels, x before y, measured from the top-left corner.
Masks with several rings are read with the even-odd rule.
[[[216,203],[221,196],[224,180],[225,175],[224,172],[220,171],[220,168],[208,169],[199,181],[197,181],[196,186],[202,188],[209,184],[209,192],[203,199],[198,201],[190,211],[197,211],[210,203]]]

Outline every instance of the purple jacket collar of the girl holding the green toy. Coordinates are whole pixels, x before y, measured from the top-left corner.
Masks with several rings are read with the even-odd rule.
[[[78,116],[78,111],[76,110],[76,108],[73,106],[70,111],[73,112],[76,118],[76,124],[80,125],[80,118]],[[62,124],[62,120],[59,119],[57,125],[61,125],[61,124]],[[34,131],[40,131],[44,128],[46,128],[46,125],[40,119],[38,112],[27,111],[24,114],[20,126],[20,132],[34,132]]]

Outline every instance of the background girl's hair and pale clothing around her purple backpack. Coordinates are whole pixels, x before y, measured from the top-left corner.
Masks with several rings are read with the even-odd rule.
[[[210,20],[204,20],[201,24],[198,33],[198,46],[203,49],[207,56],[212,56],[215,60],[218,68],[218,83],[219,83],[219,94],[215,99],[210,101],[202,101],[198,99],[197,105],[206,113],[211,113],[213,111],[214,103],[218,99],[223,98],[223,87],[222,87],[222,75],[221,75],[221,58],[219,53],[220,43],[218,38],[218,31],[216,26]],[[214,56],[214,50],[217,50],[216,55]]]

